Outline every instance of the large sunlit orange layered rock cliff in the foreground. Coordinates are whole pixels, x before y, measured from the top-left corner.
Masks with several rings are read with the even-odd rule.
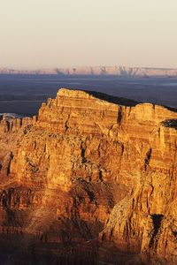
[[[175,264],[176,119],[161,106],[65,88],[37,120],[3,118],[4,264]]]

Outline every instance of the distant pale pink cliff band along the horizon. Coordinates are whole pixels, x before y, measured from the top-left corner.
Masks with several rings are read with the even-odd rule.
[[[177,77],[177,69],[125,66],[87,66],[38,70],[14,70],[0,68],[0,74],[54,74],[54,75],[117,75],[125,77]]]

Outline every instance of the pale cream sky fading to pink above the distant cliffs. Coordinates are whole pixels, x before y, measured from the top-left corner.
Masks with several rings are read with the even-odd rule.
[[[177,0],[0,0],[0,67],[177,68]]]

